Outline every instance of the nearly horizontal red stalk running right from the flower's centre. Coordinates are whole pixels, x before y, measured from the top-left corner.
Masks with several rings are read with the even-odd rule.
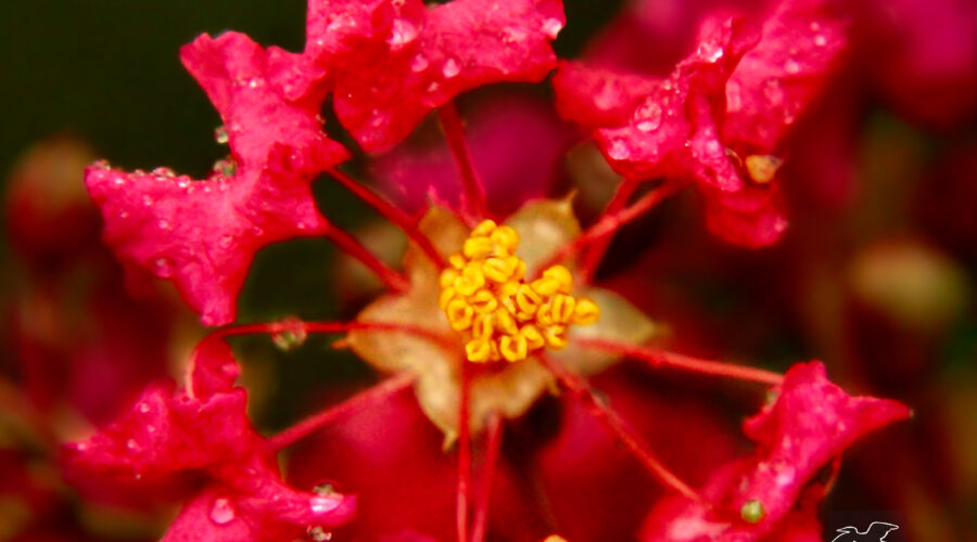
[[[693,373],[738,378],[740,380],[758,382],[760,384],[770,384],[772,386],[776,386],[784,382],[783,375],[772,371],[745,367],[719,361],[701,360],[681,353],[667,352],[664,350],[657,350],[626,343],[616,343],[613,340],[605,339],[576,339],[574,340],[574,344],[585,348],[617,352],[629,358],[644,361],[655,367],[670,366]]]

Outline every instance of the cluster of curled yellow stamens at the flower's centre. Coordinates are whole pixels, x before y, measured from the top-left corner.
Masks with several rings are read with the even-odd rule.
[[[469,361],[515,362],[545,346],[563,348],[570,324],[586,325],[600,317],[593,300],[570,295],[573,275],[562,266],[525,283],[518,246],[516,230],[485,220],[441,273],[439,305],[452,328],[467,338]]]

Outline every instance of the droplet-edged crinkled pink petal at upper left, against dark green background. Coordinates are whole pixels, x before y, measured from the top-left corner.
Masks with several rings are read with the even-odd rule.
[[[233,321],[259,248],[328,227],[308,183],[346,154],[321,132],[316,109],[281,99],[265,51],[246,36],[203,35],[182,59],[225,120],[234,172],[193,181],[162,168],[92,167],[86,184],[102,210],[104,240],[130,273],[172,279],[201,320],[218,325]]]

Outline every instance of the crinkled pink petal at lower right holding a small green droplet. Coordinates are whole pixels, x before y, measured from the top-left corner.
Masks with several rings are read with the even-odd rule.
[[[896,401],[847,395],[827,380],[820,362],[794,366],[774,391],[777,399],[744,424],[757,442],[753,455],[713,474],[702,491],[707,503],[673,498],[657,505],[643,540],[764,540],[783,528],[822,466],[858,438],[910,415]],[[749,501],[762,505],[757,522],[740,517]]]

